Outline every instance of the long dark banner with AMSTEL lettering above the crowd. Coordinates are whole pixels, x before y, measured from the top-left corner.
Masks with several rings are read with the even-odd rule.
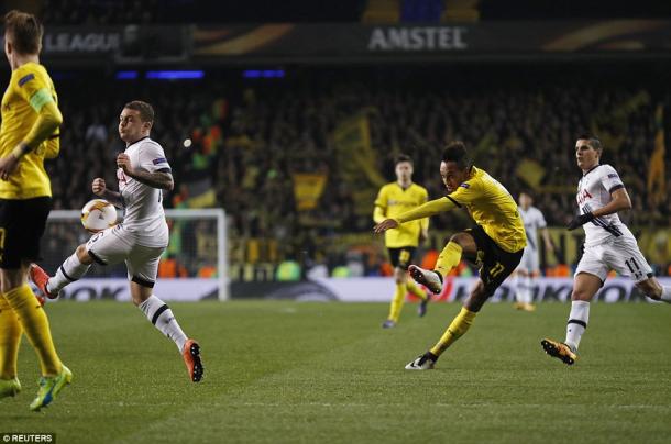
[[[389,56],[671,54],[671,21],[498,22],[436,25],[198,26],[198,58],[372,59]]]

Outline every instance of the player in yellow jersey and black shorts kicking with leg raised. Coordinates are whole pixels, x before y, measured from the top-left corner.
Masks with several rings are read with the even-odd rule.
[[[515,200],[496,179],[471,164],[462,142],[450,143],[443,152],[440,176],[448,189],[447,197],[387,219],[375,226],[375,232],[382,233],[442,211],[465,208],[475,226],[450,237],[433,270],[410,265],[409,271],[415,280],[438,293],[443,277],[463,255],[480,266],[480,280],[442,337],[431,349],[409,363],[406,366],[408,370],[433,368],[440,355],[469,330],[487,298],[517,268],[527,245],[525,225]]]

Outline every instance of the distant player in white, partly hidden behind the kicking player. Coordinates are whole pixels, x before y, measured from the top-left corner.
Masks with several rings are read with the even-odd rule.
[[[534,299],[532,288],[534,278],[540,276],[540,260],[538,258],[538,232],[540,232],[543,242],[546,244],[546,251],[553,253],[552,241],[550,241],[550,234],[548,233],[548,224],[546,218],[536,207],[532,207],[534,199],[527,192],[520,192],[518,197],[519,206],[517,211],[525,223],[525,231],[527,233],[527,246],[525,253],[521,256],[521,260],[517,266],[515,273],[516,276],[516,291],[515,291],[515,308],[517,310],[534,311],[536,307],[531,303]]]

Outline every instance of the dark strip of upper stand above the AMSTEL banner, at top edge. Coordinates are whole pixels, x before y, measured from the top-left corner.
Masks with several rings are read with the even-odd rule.
[[[7,2],[7,3],[16,3]],[[47,24],[105,25],[127,23],[262,23],[262,22],[373,22],[438,23],[440,21],[574,20],[668,18],[667,2],[594,2],[584,8],[580,0],[553,2],[528,0],[31,0]],[[594,4],[593,4],[594,3]],[[1,5],[0,5],[1,8]],[[578,11],[578,12],[576,12]]]

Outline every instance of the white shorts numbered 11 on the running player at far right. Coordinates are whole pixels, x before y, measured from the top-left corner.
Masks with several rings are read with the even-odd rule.
[[[630,277],[637,284],[652,277],[652,268],[638,248],[636,240],[624,236],[612,243],[586,247],[575,275],[588,273],[605,282],[612,269]]]

